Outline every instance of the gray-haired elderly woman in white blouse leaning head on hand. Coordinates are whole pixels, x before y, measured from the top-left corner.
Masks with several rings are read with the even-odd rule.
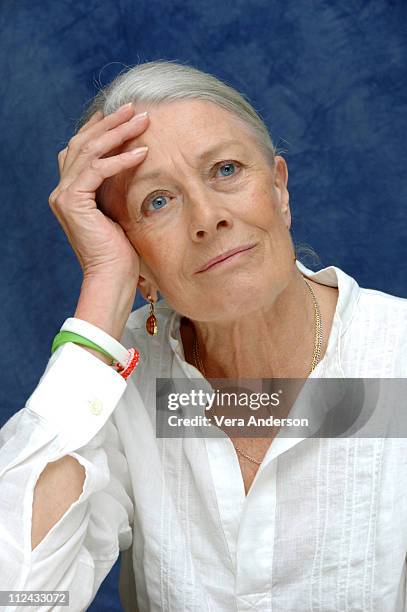
[[[121,74],[59,167],[83,283],[2,430],[1,589],[84,610],[122,551],[126,611],[404,610],[403,439],[157,437],[155,392],[406,377],[407,300],[296,259],[285,160],[196,69]]]

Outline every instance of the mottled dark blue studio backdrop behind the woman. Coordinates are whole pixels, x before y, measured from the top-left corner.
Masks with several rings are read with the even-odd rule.
[[[57,153],[125,65],[187,62],[247,94],[288,163],[294,240],[317,268],[407,297],[403,0],[9,0],[0,31],[0,425],[37,385],[79,295],[48,205]],[[121,609],[117,566],[91,609]]]

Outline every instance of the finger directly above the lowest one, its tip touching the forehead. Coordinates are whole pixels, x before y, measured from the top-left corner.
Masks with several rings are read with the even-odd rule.
[[[109,130],[98,138],[84,143],[75,157],[73,155],[69,156],[68,147],[68,156],[64,165],[65,177],[74,179],[92,160],[113,156],[117,149],[126,141],[140,136],[147,129],[148,124],[148,115],[135,115],[130,121],[118,125],[115,129]]]

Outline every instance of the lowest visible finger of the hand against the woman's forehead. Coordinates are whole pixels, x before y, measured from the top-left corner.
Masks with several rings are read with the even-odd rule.
[[[75,192],[96,192],[103,181],[124,170],[141,164],[148,152],[148,147],[137,147],[113,157],[94,159],[71,184],[69,189]]]

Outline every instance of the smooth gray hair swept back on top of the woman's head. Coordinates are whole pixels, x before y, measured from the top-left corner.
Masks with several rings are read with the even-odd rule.
[[[271,165],[274,164],[276,148],[265,123],[245,95],[211,74],[174,61],[146,62],[120,73],[93,98],[76,131],[98,110],[109,115],[128,102],[154,105],[185,98],[207,100],[233,113],[251,130]]]

